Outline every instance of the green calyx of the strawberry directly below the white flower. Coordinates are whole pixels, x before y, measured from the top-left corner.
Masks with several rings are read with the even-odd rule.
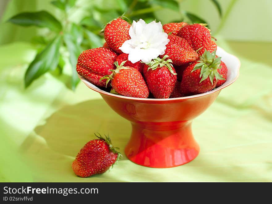
[[[159,57],[155,58],[155,59],[152,59],[151,62],[148,62],[148,63],[145,63],[146,65],[148,65],[148,69],[147,71],[149,71],[150,69],[151,70],[155,70],[157,68],[161,68],[161,67],[167,67],[169,72],[172,74],[172,75],[176,75],[176,73],[174,72],[173,70],[173,62],[171,59],[168,59],[168,60],[165,60],[166,58],[168,58],[169,56],[168,55],[164,55],[164,57],[161,59]],[[144,63],[144,62],[142,62]]]

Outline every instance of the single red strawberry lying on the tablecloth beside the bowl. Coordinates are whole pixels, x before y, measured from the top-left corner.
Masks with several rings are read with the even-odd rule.
[[[90,177],[102,174],[121,157],[121,154],[112,146],[109,137],[103,138],[100,134],[96,137],[99,139],[91,140],[84,145],[72,164],[77,176]]]

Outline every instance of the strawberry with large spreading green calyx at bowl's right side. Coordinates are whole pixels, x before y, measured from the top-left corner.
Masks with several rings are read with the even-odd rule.
[[[218,69],[221,68],[221,57],[215,58],[215,50],[205,50],[200,60],[190,64],[183,72],[181,93],[194,95],[205,93],[215,88],[218,80],[222,80]]]

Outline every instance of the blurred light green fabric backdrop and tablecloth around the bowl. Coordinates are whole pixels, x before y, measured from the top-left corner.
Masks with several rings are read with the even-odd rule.
[[[124,147],[128,121],[113,112],[101,96],[79,83],[73,92],[49,73],[24,89],[23,76],[35,57],[30,43],[43,29],[6,23],[21,11],[45,9],[58,14],[49,0],[8,2],[0,24],[0,180],[1,181],[272,181],[272,2],[219,1],[220,19],[208,0],[185,0],[183,9],[206,19],[217,44],[241,61],[240,76],[193,121],[201,151],[180,167],[155,169],[126,157],[102,175],[79,178],[71,163],[93,132],[109,133],[113,145]],[[115,1],[93,1],[117,6]],[[1,2],[1,9],[4,3]],[[4,8],[4,7],[3,7]],[[75,14],[74,18],[76,18]],[[167,23],[177,20],[169,10],[155,12]],[[116,16],[113,16],[113,18]],[[106,22],[105,22],[106,23]]]

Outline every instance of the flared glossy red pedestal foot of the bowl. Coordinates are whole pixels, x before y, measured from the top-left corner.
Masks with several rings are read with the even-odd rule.
[[[125,154],[136,164],[154,168],[176,167],[192,161],[199,153],[191,122],[131,124],[132,133]]]

